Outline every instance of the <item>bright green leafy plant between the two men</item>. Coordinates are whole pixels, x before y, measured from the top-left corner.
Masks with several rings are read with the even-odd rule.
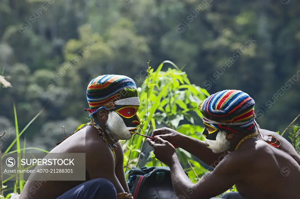
[[[168,68],[167,71],[161,71],[166,63],[172,64],[175,69]],[[200,135],[202,127],[195,125],[194,120],[201,119],[197,106],[209,95],[208,92],[191,84],[186,73],[170,61],[161,63],[155,72],[149,66],[147,73],[147,78],[138,88],[141,103],[138,115],[142,124],[137,132],[151,136],[152,130],[158,126],[167,126],[189,136],[202,137]],[[180,124],[183,122],[184,124]],[[123,146],[126,148],[125,171],[132,166],[158,166],[160,164],[152,153],[145,149],[143,136],[135,134]],[[181,162],[187,166],[187,160],[191,159],[190,154],[180,148],[177,151]]]

